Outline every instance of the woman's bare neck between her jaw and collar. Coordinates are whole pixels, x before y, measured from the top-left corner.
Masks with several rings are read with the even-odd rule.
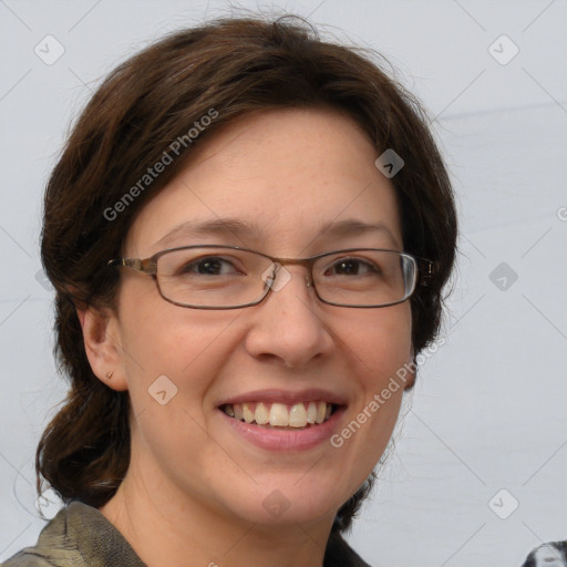
[[[301,524],[250,523],[172,485],[147,464],[131,462],[118,491],[100,508],[148,567],[322,567],[333,515]]]

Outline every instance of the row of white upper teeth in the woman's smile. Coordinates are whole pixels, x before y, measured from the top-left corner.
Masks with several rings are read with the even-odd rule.
[[[223,406],[223,411],[230,417],[280,427],[305,427],[308,423],[322,423],[329,419],[331,410],[332,405],[327,402],[301,402],[290,406],[278,402],[245,402]]]

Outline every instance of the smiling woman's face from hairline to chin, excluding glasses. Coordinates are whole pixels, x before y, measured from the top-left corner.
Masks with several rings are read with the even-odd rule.
[[[124,255],[146,258],[197,244],[285,258],[355,247],[402,250],[394,189],[374,166],[378,156],[354,123],[330,111],[247,116],[198,147],[142,209]],[[381,228],[321,230],[347,219]],[[184,223],[215,223],[215,229],[177,229],[164,239]],[[107,383],[130,391],[128,474],[158,487],[151,492],[156,504],[264,524],[328,519],[382,455],[403,384],[388,400],[380,394],[411,360],[409,302],[324,305],[306,286],[303,266],[286,269],[291,279],[260,305],[218,311],[172,305],[152,278],[122,269],[109,323],[120,364]],[[166,379],[156,382],[159,377]],[[340,411],[305,430],[245,425],[221,409],[250,402],[254,412],[261,402],[269,414],[272,403],[289,411],[306,402],[309,412],[308,402],[326,401],[339,402]],[[281,417],[281,410],[274,412]],[[341,435],[349,423],[350,436]]]

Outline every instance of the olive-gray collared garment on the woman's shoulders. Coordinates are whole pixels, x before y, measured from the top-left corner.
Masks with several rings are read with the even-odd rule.
[[[41,530],[38,543],[1,567],[147,567],[126,538],[96,508],[72,502]],[[323,567],[370,567],[338,534],[331,534]]]

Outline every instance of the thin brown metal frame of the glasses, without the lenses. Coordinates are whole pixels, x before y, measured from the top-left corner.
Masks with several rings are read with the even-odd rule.
[[[216,245],[216,244],[202,244],[202,245],[190,245],[190,246],[178,246],[175,248],[167,248],[165,250],[159,250],[158,252],[154,254],[153,256],[150,256],[148,258],[113,258],[107,261],[107,266],[118,266],[118,267],[125,267],[131,268],[135,271],[141,271],[142,274],[146,274],[148,276],[152,276],[153,279],[156,282],[157,290],[163,299],[165,299],[167,302],[173,303],[174,306],[178,307],[185,307],[187,309],[208,309],[208,310],[227,310],[227,309],[243,309],[245,307],[254,307],[259,303],[261,303],[270,293],[272,290],[271,286],[267,286],[266,292],[256,301],[252,301],[250,303],[245,303],[243,306],[228,306],[228,307],[208,307],[208,306],[190,306],[187,303],[181,303],[178,301],[174,301],[173,299],[169,299],[164,296],[162,292],[162,288],[159,287],[159,280],[157,278],[157,260],[161,256],[164,256],[165,254],[176,251],[176,250],[186,250],[190,248],[227,248],[230,250],[241,250],[247,252],[252,252],[258,256],[262,256],[264,258],[267,258],[271,260],[272,264],[279,264],[280,266],[290,266],[290,265],[297,265],[297,266],[303,266],[308,270],[308,278],[307,278],[307,287],[312,287],[315,290],[315,293],[319,301],[322,303],[334,306],[334,307],[349,307],[352,309],[378,309],[381,307],[391,307],[399,303],[403,303],[408,299],[410,299],[413,293],[415,292],[415,289],[417,288],[417,285],[421,286],[427,286],[432,276],[433,276],[433,261],[427,260],[425,258],[421,258],[419,256],[414,256],[412,254],[403,252],[400,250],[390,250],[386,248],[341,248],[339,250],[331,250],[328,252],[318,254],[316,256],[310,256],[308,258],[277,258],[274,256],[269,256],[264,252],[259,252],[257,250],[251,250],[250,248],[245,248],[241,246],[228,246],[228,245]],[[411,262],[414,265],[414,278],[412,284],[412,289],[409,293],[405,293],[403,299],[400,299],[399,301],[393,301],[391,303],[384,303],[384,305],[378,305],[378,306],[350,306],[350,305],[343,305],[343,303],[334,303],[332,301],[327,301],[326,299],[322,299],[319,295],[319,291],[317,290],[317,286],[315,284],[313,279],[313,265],[319,258],[323,258],[326,256],[331,256],[333,254],[338,252],[352,252],[352,251],[384,251],[384,252],[395,252],[400,256],[410,258]]]

